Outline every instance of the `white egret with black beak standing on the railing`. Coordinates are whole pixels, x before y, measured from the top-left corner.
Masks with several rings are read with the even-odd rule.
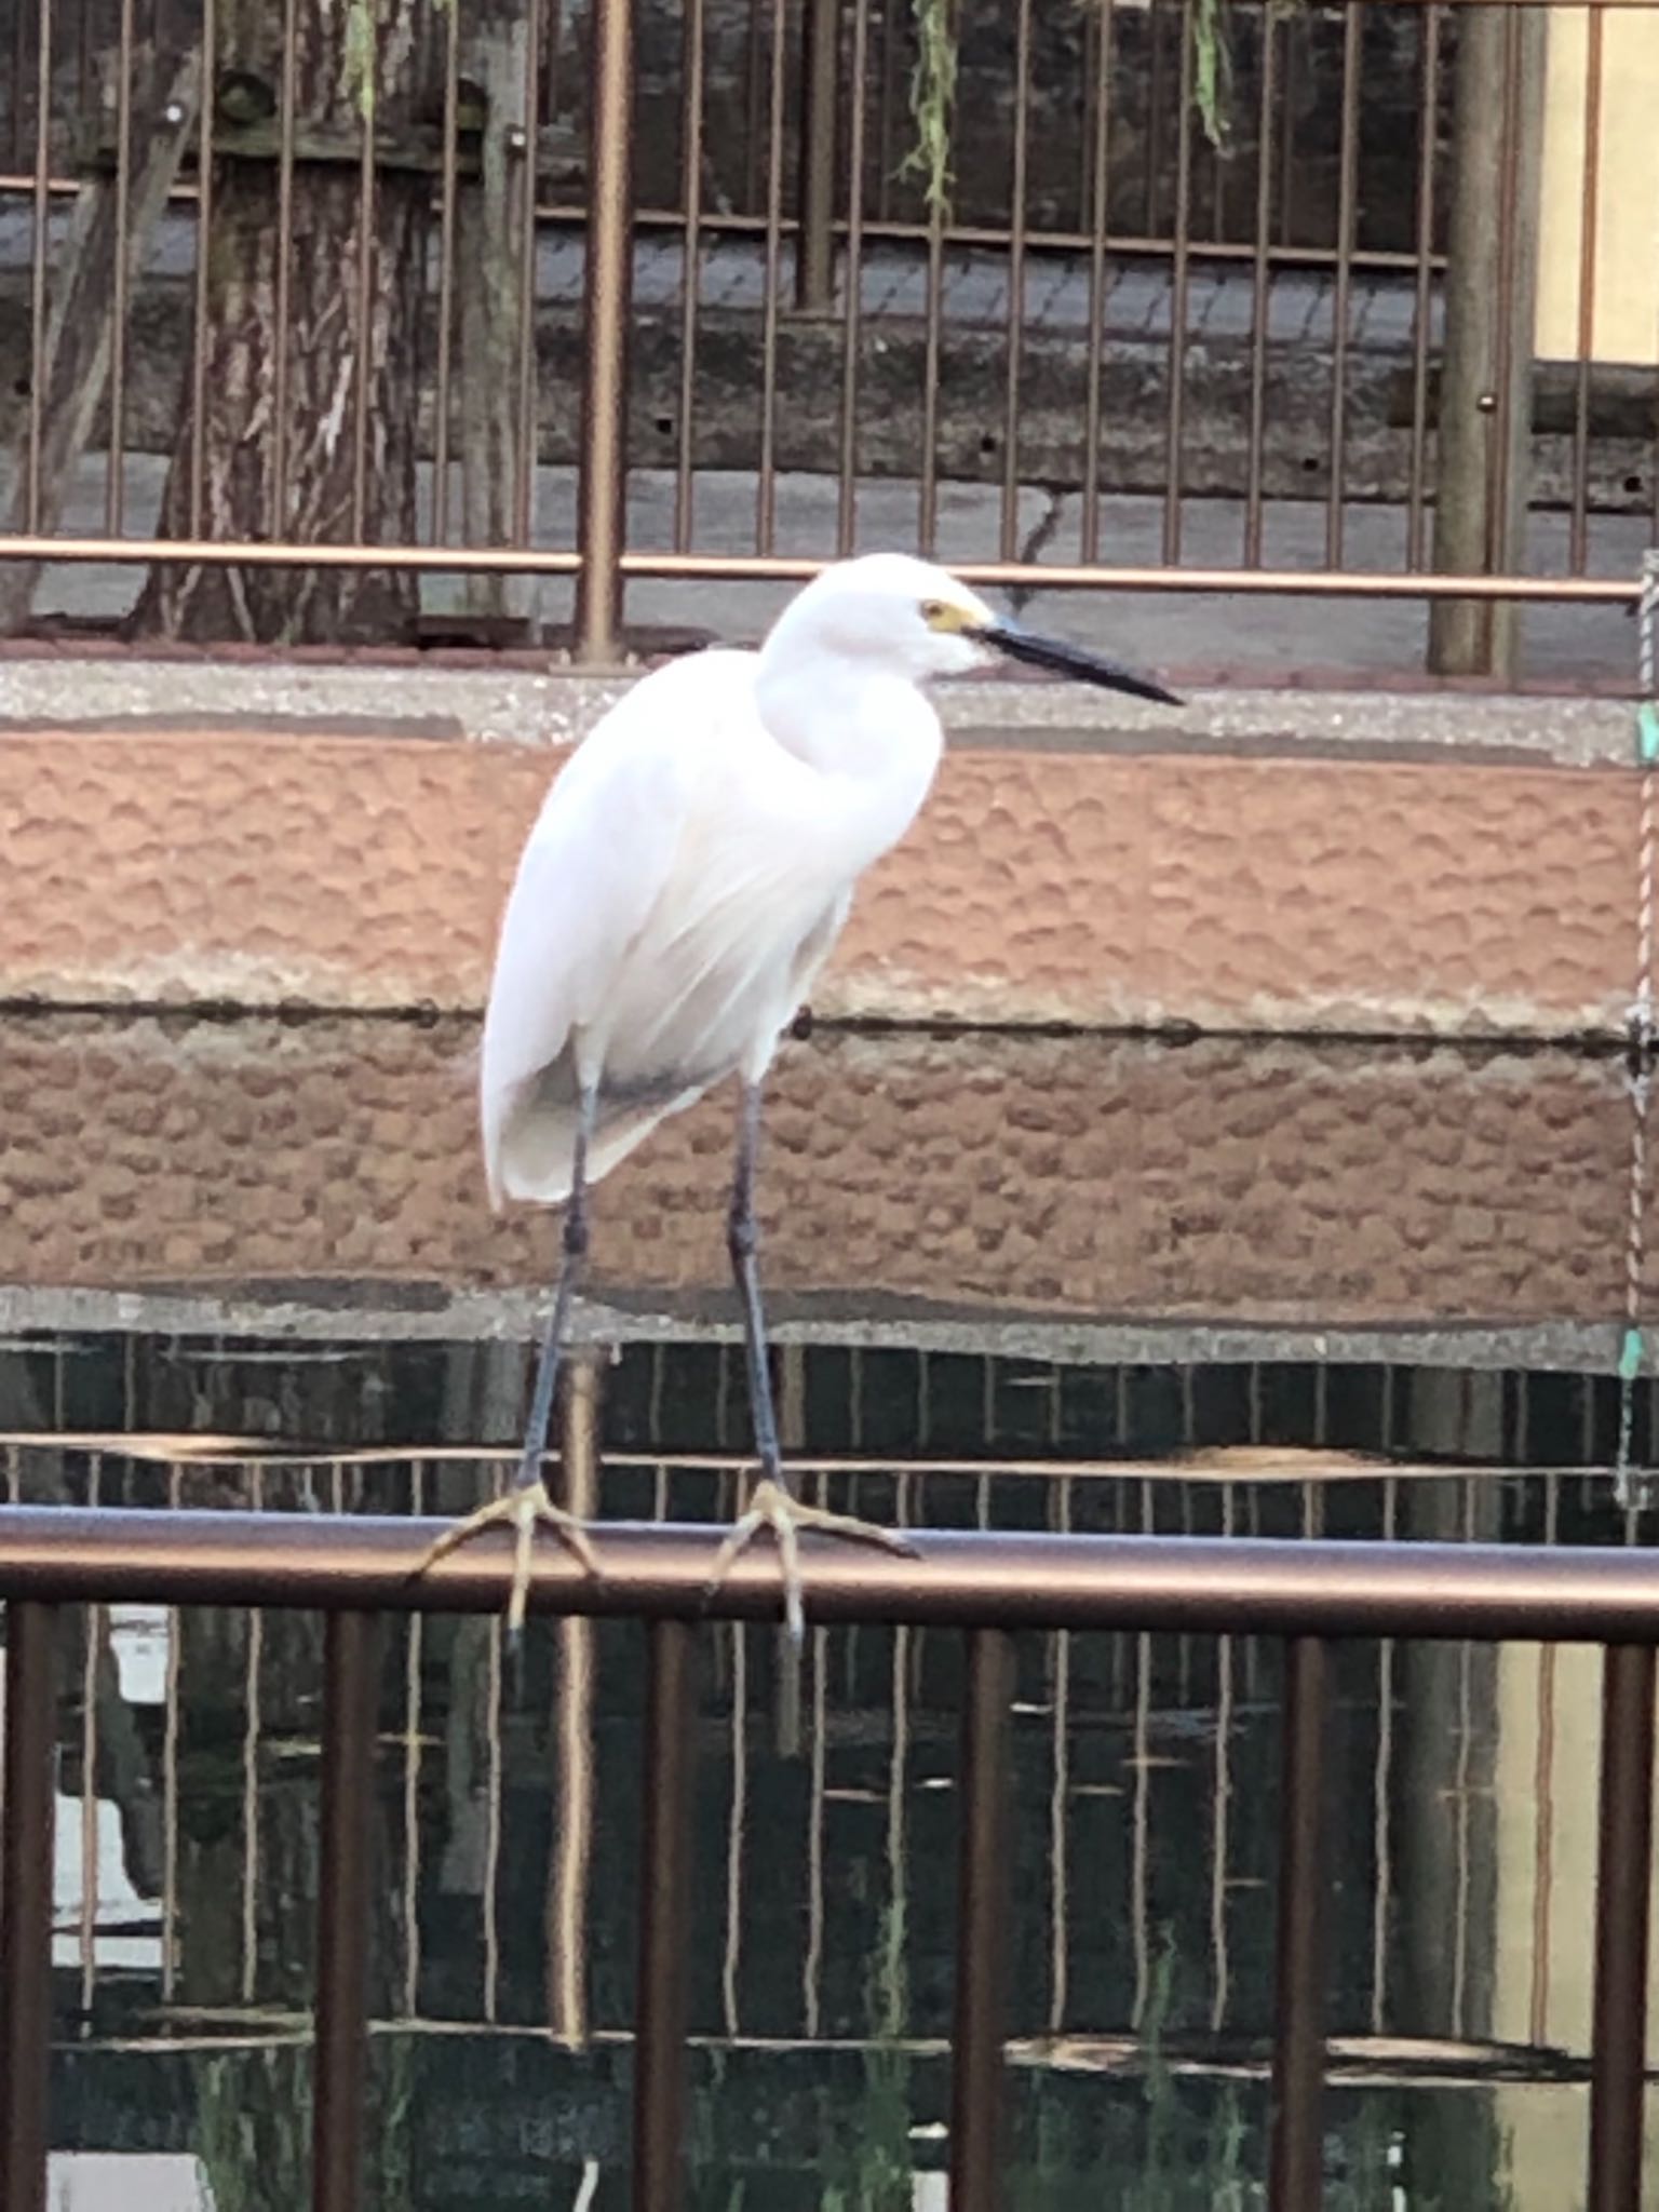
[[[956,577],[900,553],[825,568],[759,653],[653,670],[553,783],[531,830],[484,1013],[491,1201],[564,1201],[564,1256],[513,1489],[447,1531],[515,1531],[509,1621],[551,1526],[597,1573],[584,1526],[546,1493],[560,1349],[588,1252],[588,1186],[726,1075],[741,1079],[728,1250],[743,1305],[759,1484],[714,1582],[768,1528],[801,1635],[796,1533],[905,1548],[794,1500],[779,1455],[754,1237],[761,1084],[841,933],[863,869],[909,830],[938,768],[929,677],[998,653],[1175,706],[1159,684],[1000,619]]]

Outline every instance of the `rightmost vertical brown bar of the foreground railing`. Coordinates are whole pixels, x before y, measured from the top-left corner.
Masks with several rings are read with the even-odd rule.
[[[1652,1717],[1652,1644],[1610,1644],[1601,1655],[1601,1838],[1595,1874],[1588,2212],[1641,2208]]]

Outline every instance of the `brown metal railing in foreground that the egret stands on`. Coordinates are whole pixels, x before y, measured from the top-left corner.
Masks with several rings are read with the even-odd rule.
[[[0,2188],[44,2205],[55,1747],[53,1615],[64,1604],[274,1606],[325,1615],[323,1816],[314,1960],[314,2203],[345,2212],[363,2163],[367,2035],[365,1809],[374,1759],[374,1617],[498,1610],[509,1568],[487,1546],[411,1573],[438,1524],[248,1513],[0,1511],[7,1601],[0,1876]],[[611,1524],[604,1579],[549,1551],[535,1604],[648,1624],[650,1688],[637,1867],[633,2201],[681,2201],[692,1666],[714,1531]],[[916,1535],[916,1557],[814,1551],[814,1621],[953,1628],[960,1712],[951,2205],[1000,2201],[1011,1644],[1020,1628],[1177,1630],[1285,1639],[1270,2190],[1321,2203],[1332,1803],[1332,1644],[1345,1637],[1604,1646],[1604,1734],[1590,2037],[1590,2212],[1637,2212],[1646,2084],[1659,1564],[1639,1551],[1332,1544],[1203,1537]],[[748,1557],[714,1608],[776,1617],[776,1573]]]

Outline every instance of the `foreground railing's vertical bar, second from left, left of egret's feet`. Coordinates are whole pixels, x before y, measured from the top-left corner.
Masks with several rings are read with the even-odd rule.
[[[367,1613],[330,1613],[316,1869],[312,2212],[361,2208],[372,1794],[374,1619]]]

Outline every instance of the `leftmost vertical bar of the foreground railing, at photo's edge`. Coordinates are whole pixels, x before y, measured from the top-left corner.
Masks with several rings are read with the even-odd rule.
[[[0,2203],[46,2208],[51,2081],[53,1705],[51,1606],[7,1606],[7,1818],[0,1832]]]

